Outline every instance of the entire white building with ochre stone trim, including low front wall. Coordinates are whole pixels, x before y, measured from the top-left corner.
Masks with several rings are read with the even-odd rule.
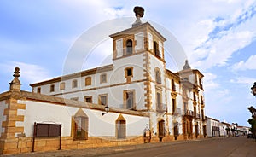
[[[136,14],[139,19],[140,12]],[[22,135],[22,140],[31,141],[34,122],[61,123],[63,142],[71,143],[64,145],[66,149],[96,147],[94,139],[99,137],[125,139],[126,144],[131,143],[127,142],[130,139],[143,142],[145,129],[150,132],[151,142],[206,137],[203,74],[191,69],[188,61],[180,72],[166,69],[166,38],[148,22],[138,19],[131,28],[110,35],[111,65],[31,84],[32,93],[20,91],[20,87],[13,89],[14,84],[20,86],[20,72],[16,69],[11,90],[0,95],[1,112],[7,116],[2,121],[9,121],[3,110],[14,105],[9,99],[13,90],[17,93],[15,104],[25,106],[15,111],[23,119],[14,121],[20,130],[10,138]],[[104,114],[106,107],[109,111]],[[2,128],[9,135],[9,126]],[[4,143],[2,152],[9,154]],[[47,151],[45,148],[48,146],[38,146],[38,151]],[[15,153],[28,151],[13,149]]]

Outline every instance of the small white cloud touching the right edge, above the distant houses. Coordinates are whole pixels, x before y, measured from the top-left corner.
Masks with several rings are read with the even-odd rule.
[[[247,61],[239,61],[231,67],[235,71],[256,70],[256,55],[251,55]]]

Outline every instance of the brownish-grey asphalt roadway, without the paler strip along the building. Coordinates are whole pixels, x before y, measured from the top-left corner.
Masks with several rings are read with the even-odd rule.
[[[104,155],[106,156],[106,155]],[[134,151],[127,151],[119,154],[107,155],[108,157],[131,157],[131,156],[256,156],[256,142],[247,137],[230,137],[225,139],[212,139],[206,141],[194,141],[164,145],[157,148],[145,148]]]

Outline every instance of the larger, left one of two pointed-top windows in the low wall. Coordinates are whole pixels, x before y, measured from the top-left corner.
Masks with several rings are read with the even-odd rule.
[[[86,140],[88,139],[88,116],[82,109],[73,117],[73,138],[74,140]]]

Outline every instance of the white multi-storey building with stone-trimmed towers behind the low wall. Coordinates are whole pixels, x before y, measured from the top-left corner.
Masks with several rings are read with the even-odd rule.
[[[113,38],[112,65],[31,84],[32,92],[79,102],[90,101],[109,108],[147,112],[150,114],[148,126],[160,140],[166,135],[183,135],[184,139],[202,135],[205,132],[203,126],[206,125],[203,120],[203,75],[191,69],[188,62],[178,73],[166,69],[166,38],[148,23],[110,37]],[[90,84],[86,82],[87,78],[90,78]],[[70,110],[75,112],[72,108]],[[88,112],[84,110],[84,113]],[[63,111],[62,114],[67,113]],[[106,118],[113,121],[116,116],[118,114],[108,114]],[[101,122],[96,124],[101,125]],[[70,124],[67,122],[67,125]],[[109,128],[107,132],[98,129],[91,132],[95,132],[96,136],[113,136],[114,131]],[[127,130],[127,133],[133,135],[132,131]]]

